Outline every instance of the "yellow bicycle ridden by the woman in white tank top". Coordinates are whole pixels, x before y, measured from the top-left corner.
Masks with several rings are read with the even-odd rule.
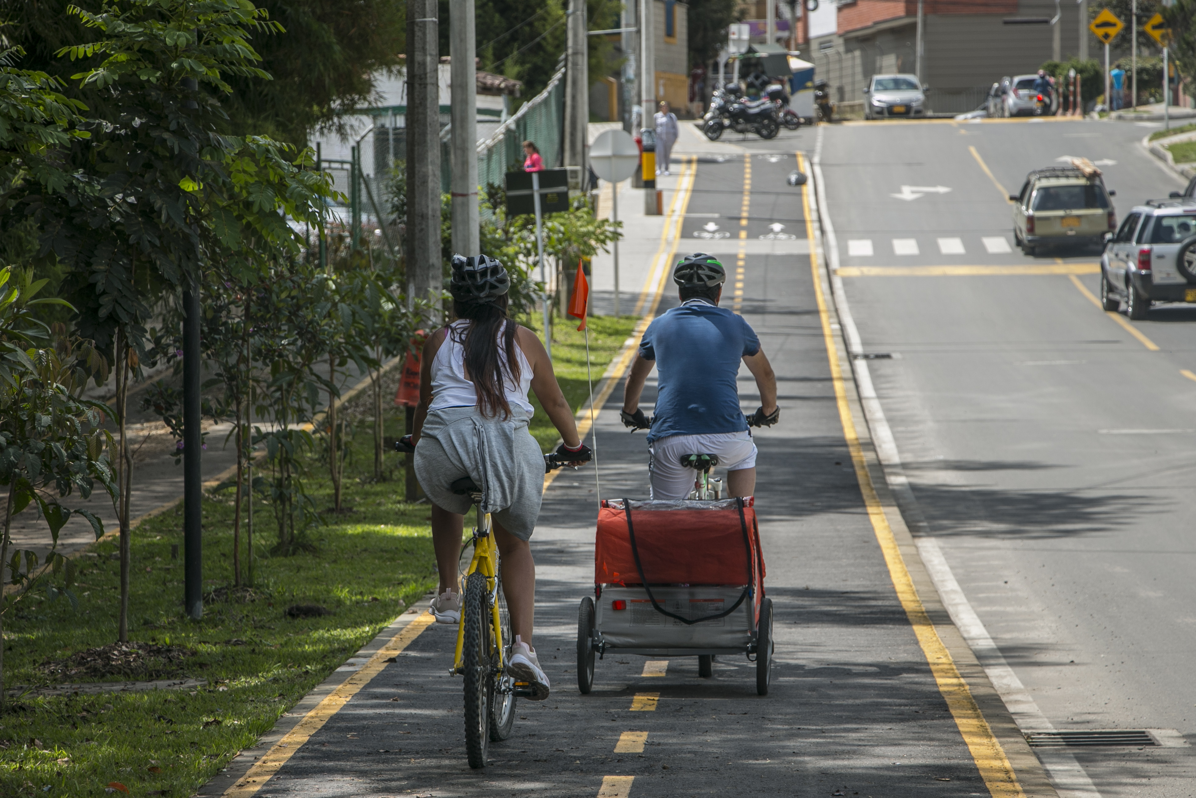
[[[547,470],[561,468],[553,455],[544,456]],[[460,622],[452,675],[465,677],[465,754],[471,768],[486,767],[490,742],[511,736],[515,700],[532,695],[530,684],[507,674],[511,658],[511,617],[502,595],[502,564],[490,534],[490,513],[482,512],[482,489],[471,477],[452,483],[452,492],[468,495],[477,512],[470,541],[474,556],[463,578]]]

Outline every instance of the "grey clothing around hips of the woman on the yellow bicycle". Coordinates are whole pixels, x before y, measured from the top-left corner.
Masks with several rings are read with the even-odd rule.
[[[438,507],[464,514],[468,495],[450,486],[469,476],[482,487],[482,511],[526,541],[544,493],[544,456],[526,419],[487,419],[476,407],[432,410],[415,446],[415,476]]]

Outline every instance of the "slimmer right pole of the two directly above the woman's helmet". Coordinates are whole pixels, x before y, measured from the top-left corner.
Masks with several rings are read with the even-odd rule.
[[[452,248],[477,255],[477,49],[474,0],[453,0],[448,18],[452,71]],[[439,112],[439,98],[437,99]],[[438,136],[439,139],[439,136]]]

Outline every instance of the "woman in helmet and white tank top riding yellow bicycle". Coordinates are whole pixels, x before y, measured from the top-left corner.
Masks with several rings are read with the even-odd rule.
[[[507,316],[511,279],[486,255],[452,257],[452,311],[457,321],[423,345],[420,403],[415,409],[415,475],[432,501],[432,541],[440,586],[432,601],[439,623],[460,620],[458,560],[464,513],[471,500],[452,483],[470,477],[493,513],[502,562],[502,592],[515,635],[509,671],[548,698],[548,676],[531,647],[536,564],[531,538],[544,489],[544,457],[527,431],[531,388],[565,441],[557,459],[580,465],[591,457],[561,394],[553,363],[531,330]]]

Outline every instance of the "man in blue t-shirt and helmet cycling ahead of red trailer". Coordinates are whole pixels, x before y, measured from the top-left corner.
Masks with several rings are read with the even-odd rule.
[[[780,418],[776,374],[759,340],[743,316],[719,307],[727,275],[710,255],[683,257],[673,269],[681,306],[654,319],[643,333],[640,351],[623,392],[623,424],[648,428],[648,469],[652,498],[684,499],[694,483],[681,463],[685,455],[716,455],[727,469],[732,497],[750,497],[756,489],[756,444],[749,420],[739,409],[736,384],[739,361],[746,364],[761,407],[752,414],[756,426],[771,426]],[[640,409],[643,383],[655,365],[655,416]]]

